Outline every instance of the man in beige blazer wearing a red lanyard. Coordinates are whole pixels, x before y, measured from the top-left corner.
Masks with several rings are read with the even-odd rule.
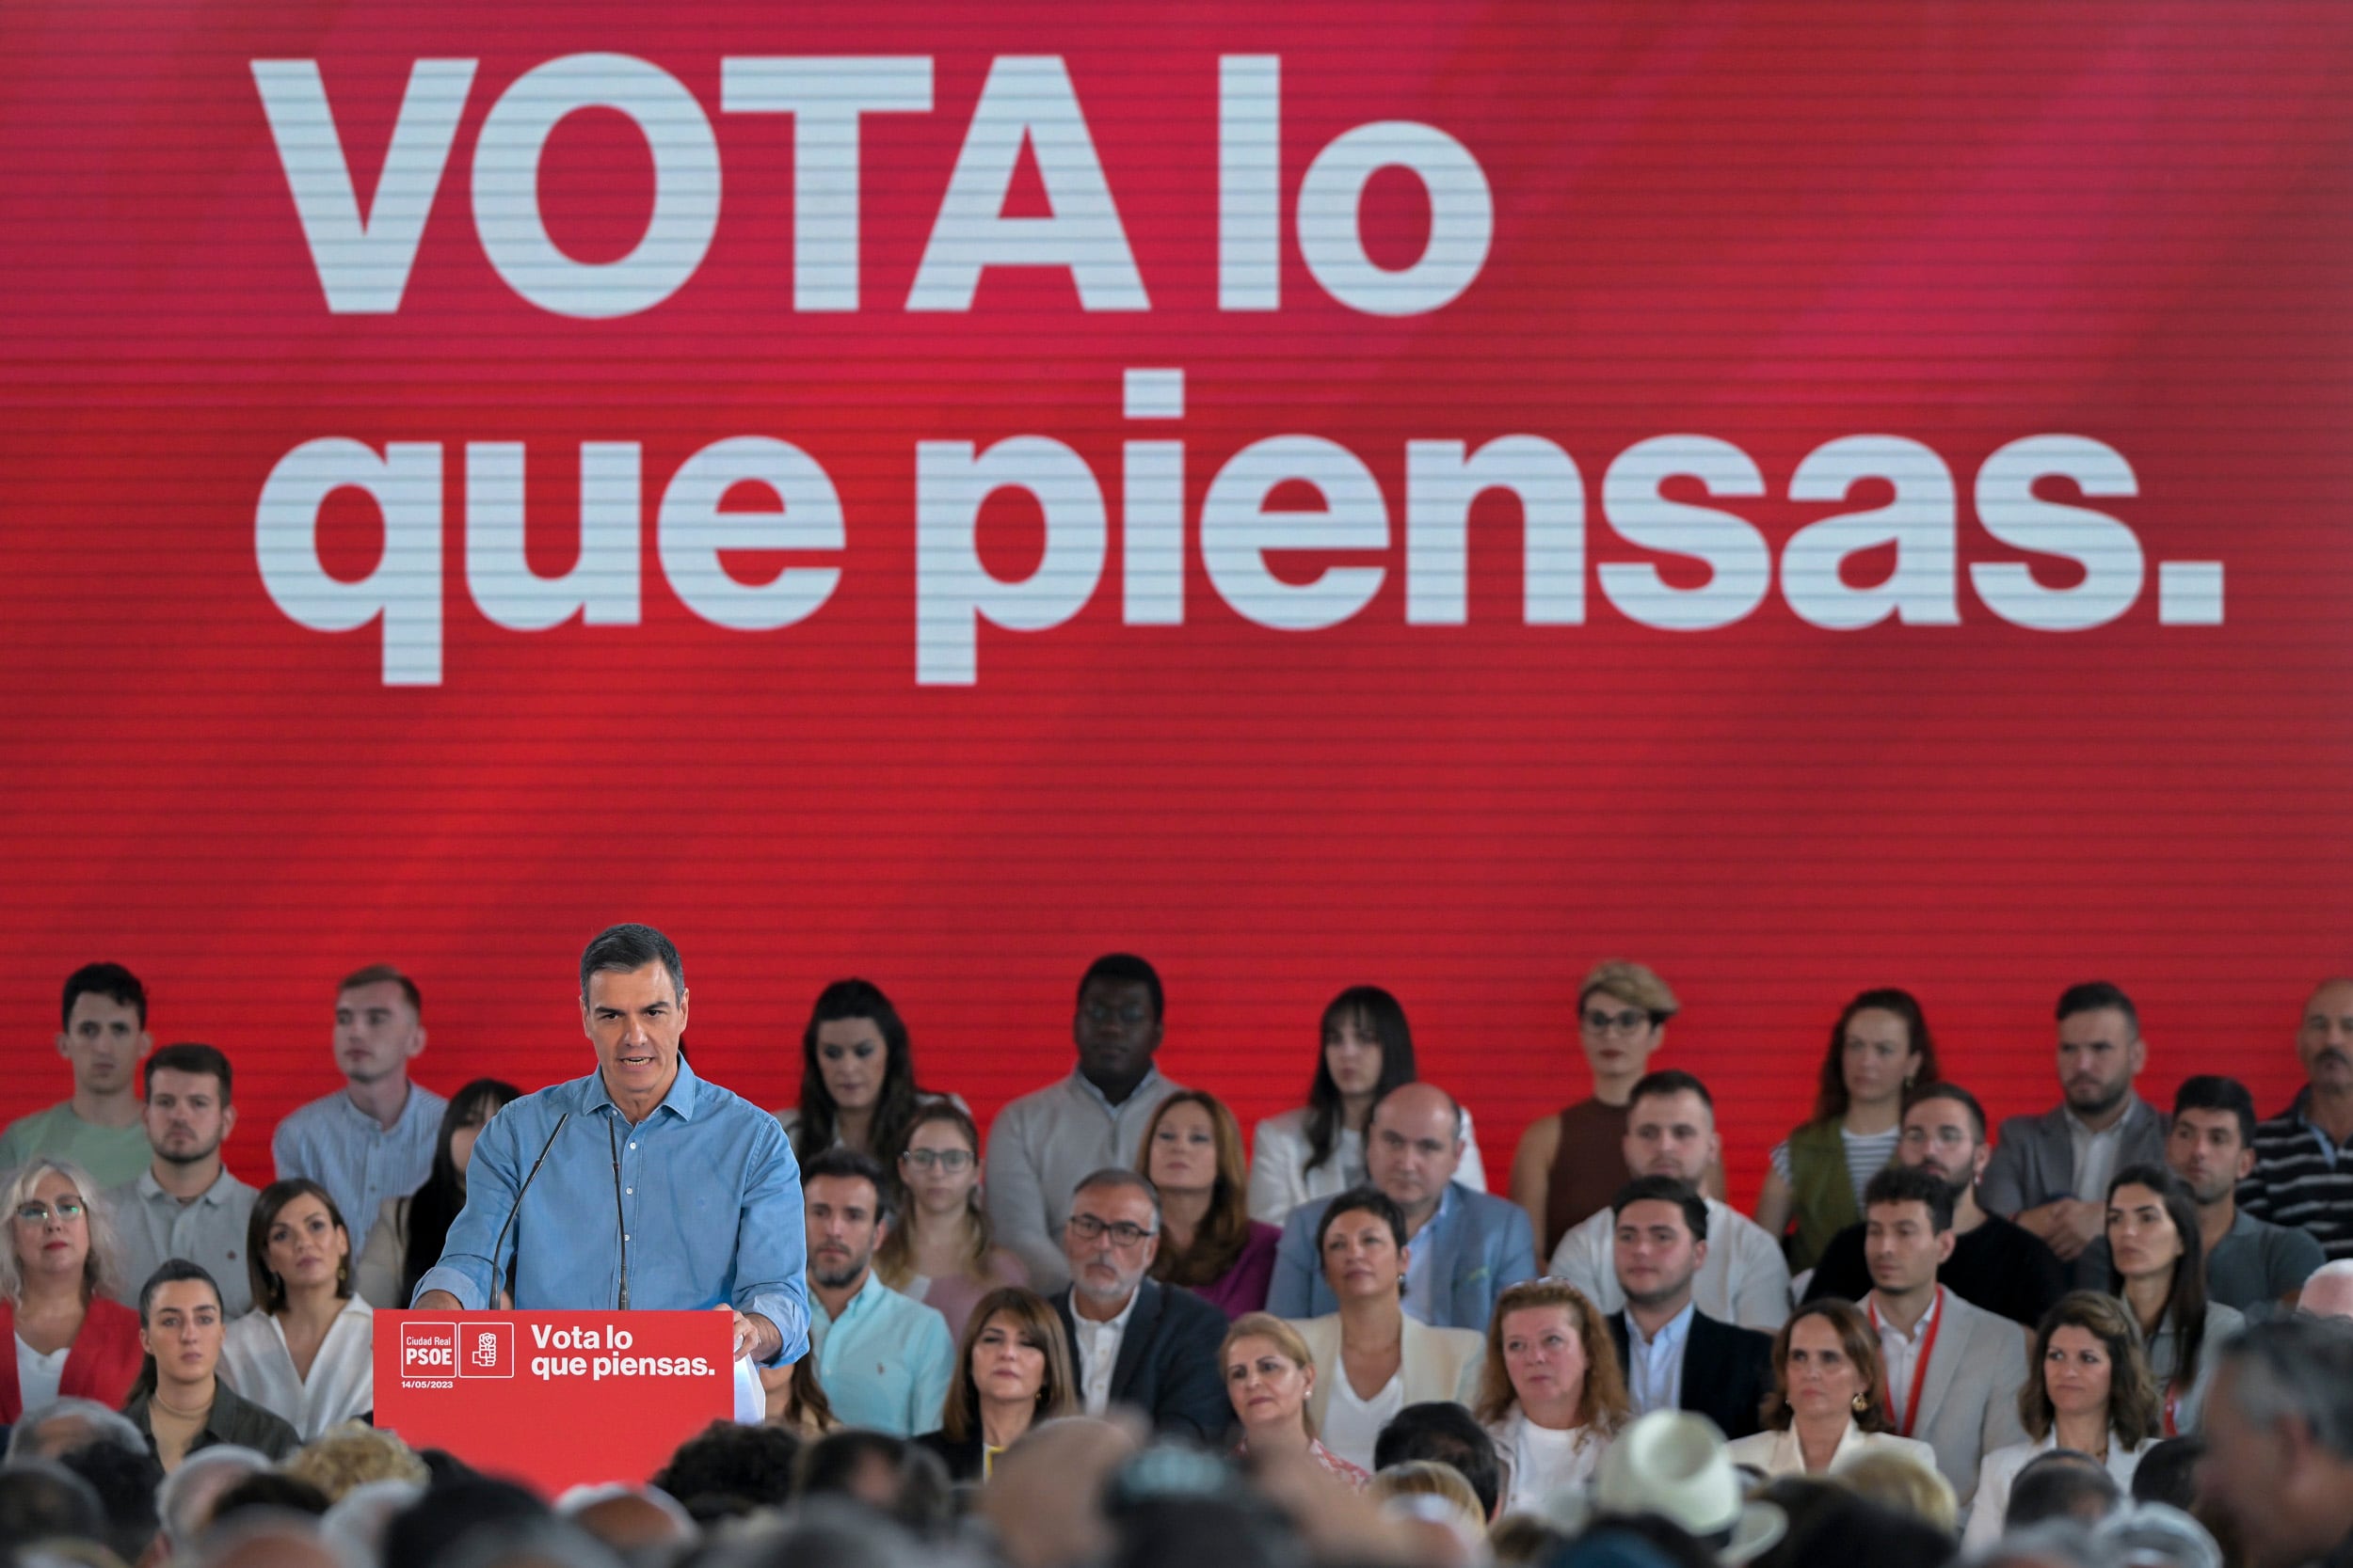
[[[1953,1187],[1920,1166],[1889,1166],[1864,1187],[1864,1316],[1880,1335],[1887,1420],[1937,1450],[1937,1469],[1967,1507],[1988,1453],[2026,1441],[2019,1326],[1937,1284],[1953,1255]]]

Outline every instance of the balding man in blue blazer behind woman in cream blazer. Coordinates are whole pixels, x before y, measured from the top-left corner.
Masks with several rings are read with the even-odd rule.
[[[1405,1309],[1435,1328],[1487,1331],[1504,1286],[1537,1276],[1527,1211],[1454,1180],[1461,1107],[1435,1084],[1398,1084],[1372,1107],[1365,1173],[1405,1211]],[[1332,1199],[1301,1204],[1282,1222],[1266,1309],[1306,1319],[1339,1312],[1315,1255],[1315,1225]]]

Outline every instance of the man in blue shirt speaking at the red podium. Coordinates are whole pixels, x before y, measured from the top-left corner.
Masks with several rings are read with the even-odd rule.
[[[776,1119],[687,1065],[687,978],[652,926],[581,952],[598,1070],[504,1107],[419,1312],[480,1312],[513,1269],[522,1309],[734,1309],[734,1354],[809,1349],[800,1166]]]

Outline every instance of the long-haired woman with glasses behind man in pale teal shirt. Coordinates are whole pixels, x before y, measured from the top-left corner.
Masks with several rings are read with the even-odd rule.
[[[1028,1267],[988,1239],[981,1133],[960,1105],[932,1100],[915,1110],[889,1171],[899,1222],[875,1248],[875,1274],[948,1319],[951,1335],[962,1335],[984,1295],[1028,1284]]]

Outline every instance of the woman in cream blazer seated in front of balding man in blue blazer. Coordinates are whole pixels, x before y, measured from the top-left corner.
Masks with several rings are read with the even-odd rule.
[[[1325,1448],[1369,1469],[1374,1439],[1405,1406],[1471,1403],[1487,1342],[1405,1314],[1405,1215],[1379,1187],[1351,1187],[1322,1204],[1315,1251],[1337,1312],[1297,1324],[1315,1366],[1308,1415]]]

